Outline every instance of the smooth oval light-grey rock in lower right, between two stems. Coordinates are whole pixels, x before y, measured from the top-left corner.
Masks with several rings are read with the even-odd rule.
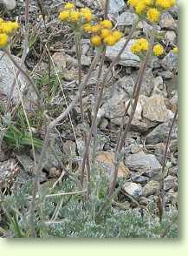
[[[157,172],[161,168],[159,161],[154,155],[144,152],[130,154],[126,157],[125,164],[134,172]]]

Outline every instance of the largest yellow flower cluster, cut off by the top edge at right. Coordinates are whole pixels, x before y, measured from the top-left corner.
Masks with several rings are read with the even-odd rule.
[[[158,23],[161,11],[172,8],[176,0],[128,0],[127,3],[139,16],[146,16],[151,23]]]

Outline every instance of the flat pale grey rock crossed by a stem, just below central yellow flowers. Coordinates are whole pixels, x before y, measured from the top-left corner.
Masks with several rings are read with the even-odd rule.
[[[118,53],[120,52],[121,48],[126,42],[126,37],[123,37],[120,42],[115,44],[114,46],[107,46],[107,53],[106,57],[110,60],[113,60]],[[135,42],[135,40],[130,40],[126,46],[125,51],[121,54],[119,64],[123,66],[132,66],[132,67],[139,67],[139,57],[131,51],[131,45]]]

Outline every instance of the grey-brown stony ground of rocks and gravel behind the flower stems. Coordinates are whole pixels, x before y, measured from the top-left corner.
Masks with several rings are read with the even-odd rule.
[[[46,13],[47,33],[51,33],[49,51],[56,72],[61,76],[64,93],[70,101],[74,98],[77,89],[78,66],[71,33],[68,28],[62,27],[57,20],[57,13],[61,9],[62,1],[46,0],[42,2]],[[87,4],[100,16],[101,10],[98,1],[75,2],[78,6]],[[4,16],[18,18],[21,23],[24,23],[24,1],[17,0],[16,3],[16,9],[5,12]],[[126,1],[111,0],[110,3],[109,17],[121,30],[126,30],[127,34],[136,15],[127,7]],[[33,33],[33,41],[25,65],[29,71],[34,71],[33,77],[38,79],[39,74],[46,71],[49,66],[47,54],[44,54],[40,59],[47,34],[44,32],[42,17],[36,1],[31,1],[29,11],[32,24],[32,30],[30,28],[30,31]],[[117,131],[120,130],[120,120],[133,93],[133,84],[139,70],[139,57],[133,55],[130,51],[130,45],[141,35],[147,35],[149,27],[150,25],[146,22],[139,22],[132,41],[127,45],[126,51],[121,56],[120,63],[109,76],[109,82],[100,105],[97,130],[99,140],[97,161],[103,165],[107,172],[111,172],[113,168],[113,152],[118,136]],[[124,160],[119,168],[119,177],[125,179],[120,199],[121,206],[123,205],[125,209],[140,207],[140,205],[147,206],[157,201],[165,142],[178,104],[178,55],[172,52],[172,48],[178,44],[178,7],[163,14],[158,31],[158,41],[165,47],[166,55],[165,57],[152,57],[147,67],[141,86],[139,104],[124,146]],[[16,38],[16,44],[13,47],[13,53],[17,57],[22,55],[22,40],[19,39],[23,37],[22,33],[23,30],[20,32],[20,37]],[[30,39],[32,38],[30,37]],[[107,49],[104,70],[117,55],[124,40],[125,38],[119,44]],[[87,74],[94,52],[88,39],[84,39],[82,43],[82,73],[84,77]],[[51,64],[51,70],[55,74],[53,64]],[[96,76],[97,70],[93,71],[87,89],[83,92],[84,110],[88,125],[91,125]],[[22,90],[24,90],[27,87],[27,82],[22,75],[19,79]],[[1,103],[6,102],[13,80],[14,71],[11,68],[10,60],[3,56],[0,51]],[[46,87],[47,84],[42,84],[44,96]],[[33,113],[36,98],[32,91],[28,93],[24,102],[28,111]],[[17,101],[18,92],[15,90],[12,104],[15,105]],[[50,98],[48,104],[49,109],[58,109],[60,106],[61,108],[62,106],[66,107],[61,90],[56,90],[55,96]],[[53,115],[55,116],[55,112],[53,112],[52,118]],[[82,152],[84,129],[81,125],[78,105],[75,106],[71,119],[72,125],[70,125],[67,118],[62,125],[58,126],[58,132],[54,131],[52,134],[52,141],[58,158],[62,159],[65,165],[68,165],[67,159],[70,159],[71,156],[72,165],[75,164],[76,171],[81,160],[79,152]],[[14,124],[16,125],[16,120],[14,120]],[[36,127],[37,125],[34,129]],[[43,138],[44,131],[37,131],[36,129],[36,134],[38,138]],[[39,152],[36,152],[36,157],[38,154]],[[6,141],[3,141],[3,151],[0,155],[0,180],[3,187],[11,187],[16,181],[23,183],[25,180],[32,179],[33,166],[34,160],[29,146],[10,149],[7,147]],[[55,179],[62,172],[59,161],[50,149],[43,161],[42,168],[41,182]],[[172,129],[172,139],[165,168],[166,207],[169,207],[169,205],[178,206],[178,172],[178,120],[176,120]]]

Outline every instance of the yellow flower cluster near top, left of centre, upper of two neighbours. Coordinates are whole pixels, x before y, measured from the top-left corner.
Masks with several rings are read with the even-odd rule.
[[[71,24],[84,24],[92,21],[93,18],[93,13],[89,8],[81,8],[81,10],[76,10],[74,3],[66,3],[64,9],[59,14],[59,19],[62,22],[67,21]]]

